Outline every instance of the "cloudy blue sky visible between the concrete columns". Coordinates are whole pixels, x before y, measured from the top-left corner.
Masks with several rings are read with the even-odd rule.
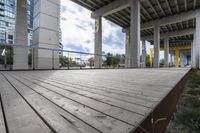
[[[71,0],[61,0],[61,31],[64,50],[94,53],[94,19],[91,11]],[[114,23],[102,20],[102,51],[124,54],[125,34]],[[150,44],[147,43],[147,53]]]

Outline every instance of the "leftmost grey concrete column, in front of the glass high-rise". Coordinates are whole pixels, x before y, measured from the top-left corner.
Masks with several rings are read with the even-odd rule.
[[[17,0],[13,69],[28,69],[27,3]]]

